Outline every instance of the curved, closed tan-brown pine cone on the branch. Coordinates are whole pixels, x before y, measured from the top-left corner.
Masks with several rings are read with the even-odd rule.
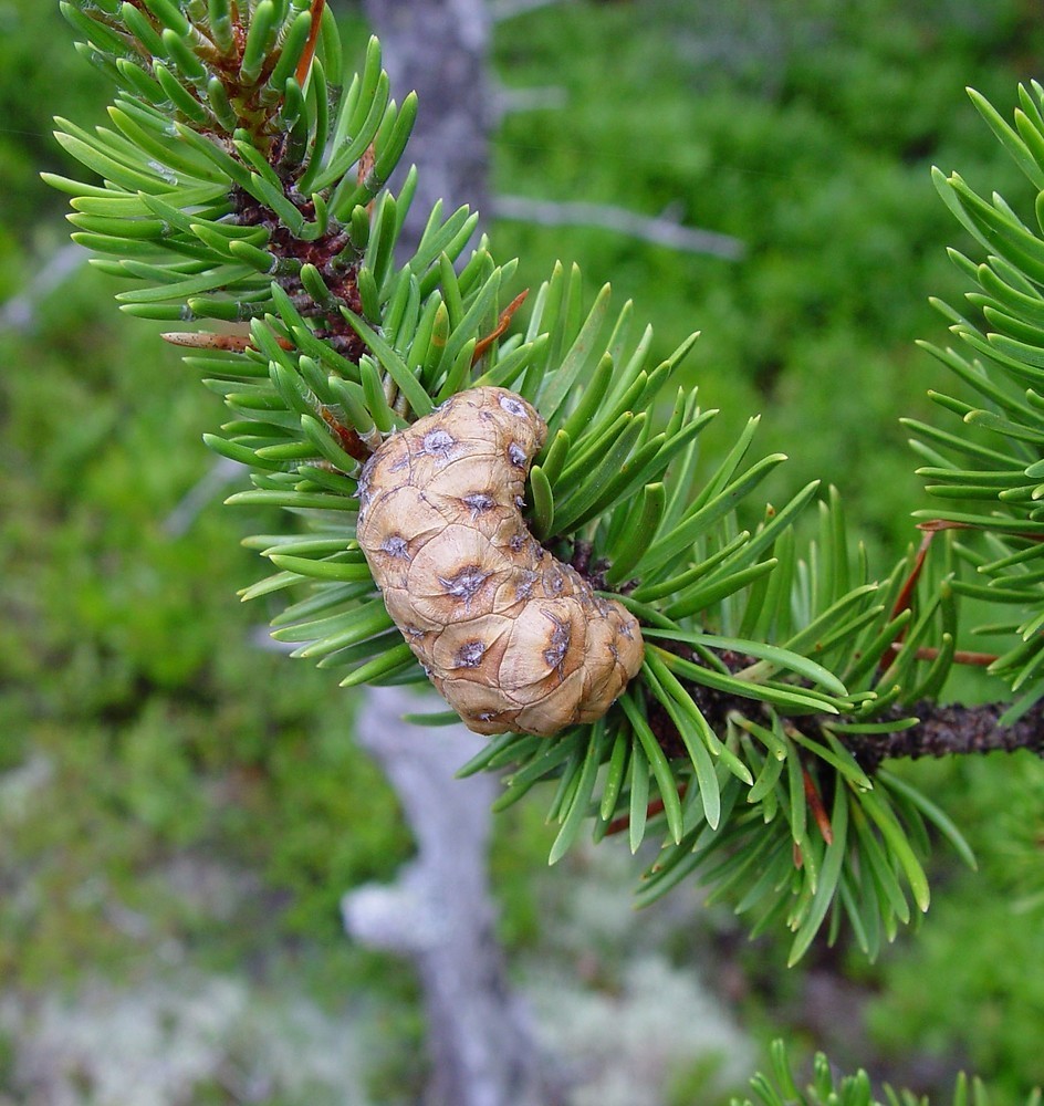
[[[389,438],[359,481],[359,546],[388,612],[478,733],[593,722],[641,667],[637,620],[526,529],[546,432],[521,396],[474,388]]]

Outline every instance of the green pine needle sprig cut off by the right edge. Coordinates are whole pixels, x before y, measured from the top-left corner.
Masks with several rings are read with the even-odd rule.
[[[972,93],[972,100],[1037,190],[1040,218],[1044,87],[1036,82],[1029,88],[1020,86],[1014,127],[978,93]],[[962,595],[1004,604],[1011,612],[990,628],[1009,637],[991,669],[1020,696],[1013,710],[1017,713],[1044,689],[1044,593],[1040,586],[1044,515],[1037,507],[1044,492],[1040,482],[1044,473],[1044,296],[1040,291],[1044,239],[1038,227],[1020,219],[996,192],[985,200],[958,174],[947,177],[938,170],[936,185],[964,229],[988,253],[980,263],[957,251],[951,254],[962,273],[978,285],[965,295],[972,317],[939,304],[951,333],[963,343],[961,349],[971,351],[971,356],[929,347],[970,387],[972,401],[943,394],[933,394],[933,398],[965,427],[981,429],[983,437],[968,438],[919,422],[910,426],[918,451],[928,461],[920,474],[930,481],[928,490],[944,503],[939,515],[954,528],[989,535],[977,547],[958,546],[972,578],[960,580],[954,587]]]

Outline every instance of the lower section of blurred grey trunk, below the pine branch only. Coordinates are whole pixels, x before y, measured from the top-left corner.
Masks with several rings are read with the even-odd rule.
[[[401,688],[370,688],[356,720],[359,744],[395,787],[417,857],[395,884],[346,895],[345,928],[417,967],[431,1062],[426,1106],[550,1106],[560,1099],[494,928],[487,849],[498,785],[455,775],[484,739],[463,726],[403,722],[426,702]]]

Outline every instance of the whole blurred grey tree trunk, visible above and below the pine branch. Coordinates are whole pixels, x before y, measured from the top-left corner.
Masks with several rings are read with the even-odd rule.
[[[439,199],[443,217],[467,204],[488,210],[484,0],[366,0],[384,48],[393,95],[420,98],[410,144],[417,195],[401,248],[413,251]],[[490,778],[455,779],[483,739],[462,726],[424,730],[400,720],[416,699],[396,688],[367,692],[358,739],[380,762],[417,842],[417,859],[389,887],[344,900],[357,940],[409,957],[428,1015],[428,1106],[547,1106],[555,1100],[497,940],[487,851]]]

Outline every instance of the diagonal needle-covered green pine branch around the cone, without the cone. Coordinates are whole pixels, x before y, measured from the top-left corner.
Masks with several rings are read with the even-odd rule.
[[[514,264],[497,265],[484,240],[468,254],[466,210],[437,207],[415,254],[396,261],[415,179],[397,196],[382,187],[414,98],[390,100],[376,41],[342,91],[336,25],[321,7],[312,35],[305,8],[261,4],[236,17],[238,36],[220,4],[63,9],[121,90],[116,131],[63,123],[59,134],[105,180],[49,178],[73,196],[73,237],[113,259],[96,262],[103,271],[136,282],[119,295],[130,314],[250,324],[249,342],[230,348],[168,337],[196,347],[187,362],[233,415],[208,437],[252,469],[253,489],[231,502],[312,520],[305,538],[251,540],[276,571],[244,597],[307,584],[275,636],[340,669],[343,686],[424,680],[355,540],[356,458],[462,388],[515,388],[551,431],[531,523],[563,560],[583,545],[606,565],[643,623],[646,664],[604,721],[550,744],[508,734],[466,771],[510,765],[501,806],[554,782],[552,860],[592,820],[596,839],[626,824],[633,851],[659,837],[641,901],[698,874],[753,912],[755,932],[783,921],[792,962],[843,919],[875,957],[928,908],[927,825],[970,859],[933,803],[886,773],[871,781],[845,748],[846,734],[914,724],[892,708],[941,690],[956,648],[952,573],[912,601],[917,562],[876,578],[833,492],[818,536],[800,540],[815,483],[781,508],[754,507],[784,456],[748,460],[751,420],[702,463],[716,413],[693,388],[655,404],[692,340],[655,359],[630,304],[614,317],[607,286],[585,302],[575,267],[556,267],[525,331],[500,340]]]

